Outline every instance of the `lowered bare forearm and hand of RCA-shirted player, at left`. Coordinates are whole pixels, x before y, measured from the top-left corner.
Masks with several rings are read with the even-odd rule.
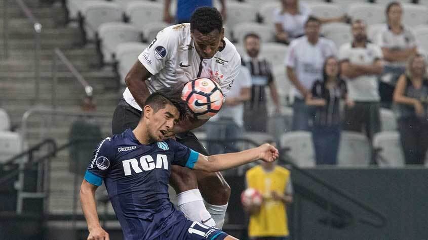
[[[98,186],[89,183],[85,179],[80,187],[82,211],[85,215],[89,230],[88,240],[109,240],[108,233],[100,226],[98,219],[97,205],[95,202],[95,191],[97,188]]]

